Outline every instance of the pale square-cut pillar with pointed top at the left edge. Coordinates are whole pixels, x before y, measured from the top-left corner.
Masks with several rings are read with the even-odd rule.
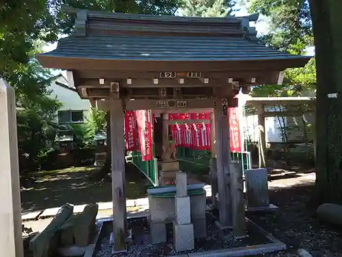
[[[23,257],[21,194],[14,89],[0,78],[0,246],[4,256]]]

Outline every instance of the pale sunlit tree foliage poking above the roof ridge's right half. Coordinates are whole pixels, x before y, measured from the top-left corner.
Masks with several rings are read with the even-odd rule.
[[[224,17],[233,11],[233,0],[185,0],[181,8],[183,16]]]

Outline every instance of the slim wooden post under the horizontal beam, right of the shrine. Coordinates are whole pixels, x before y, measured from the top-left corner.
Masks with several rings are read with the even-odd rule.
[[[265,106],[259,105],[258,114],[258,132],[259,132],[259,168],[265,168],[267,164],[266,158],[266,131],[265,131]]]

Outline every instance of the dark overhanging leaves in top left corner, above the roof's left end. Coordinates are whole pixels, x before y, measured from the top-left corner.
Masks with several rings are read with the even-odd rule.
[[[108,12],[174,15],[181,0],[27,0],[0,1],[0,74],[14,72],[31,57],[37,40],[55,42],[73,32],[75,15],[61,5]]]

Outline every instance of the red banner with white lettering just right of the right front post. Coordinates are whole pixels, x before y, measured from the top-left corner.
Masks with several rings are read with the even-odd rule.
[[[238,108],[228,108],[231,151],[242,151]]]

